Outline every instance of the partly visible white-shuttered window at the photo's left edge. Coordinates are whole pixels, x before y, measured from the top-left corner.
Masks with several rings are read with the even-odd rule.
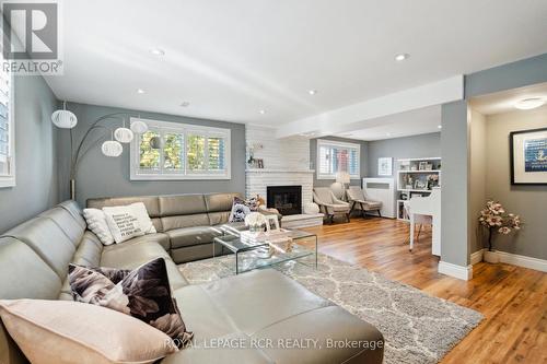
[[[0,56],[3,61],[3,57]],[[15,128],[12,75],[0,70],[0,187],[15,186]]]

